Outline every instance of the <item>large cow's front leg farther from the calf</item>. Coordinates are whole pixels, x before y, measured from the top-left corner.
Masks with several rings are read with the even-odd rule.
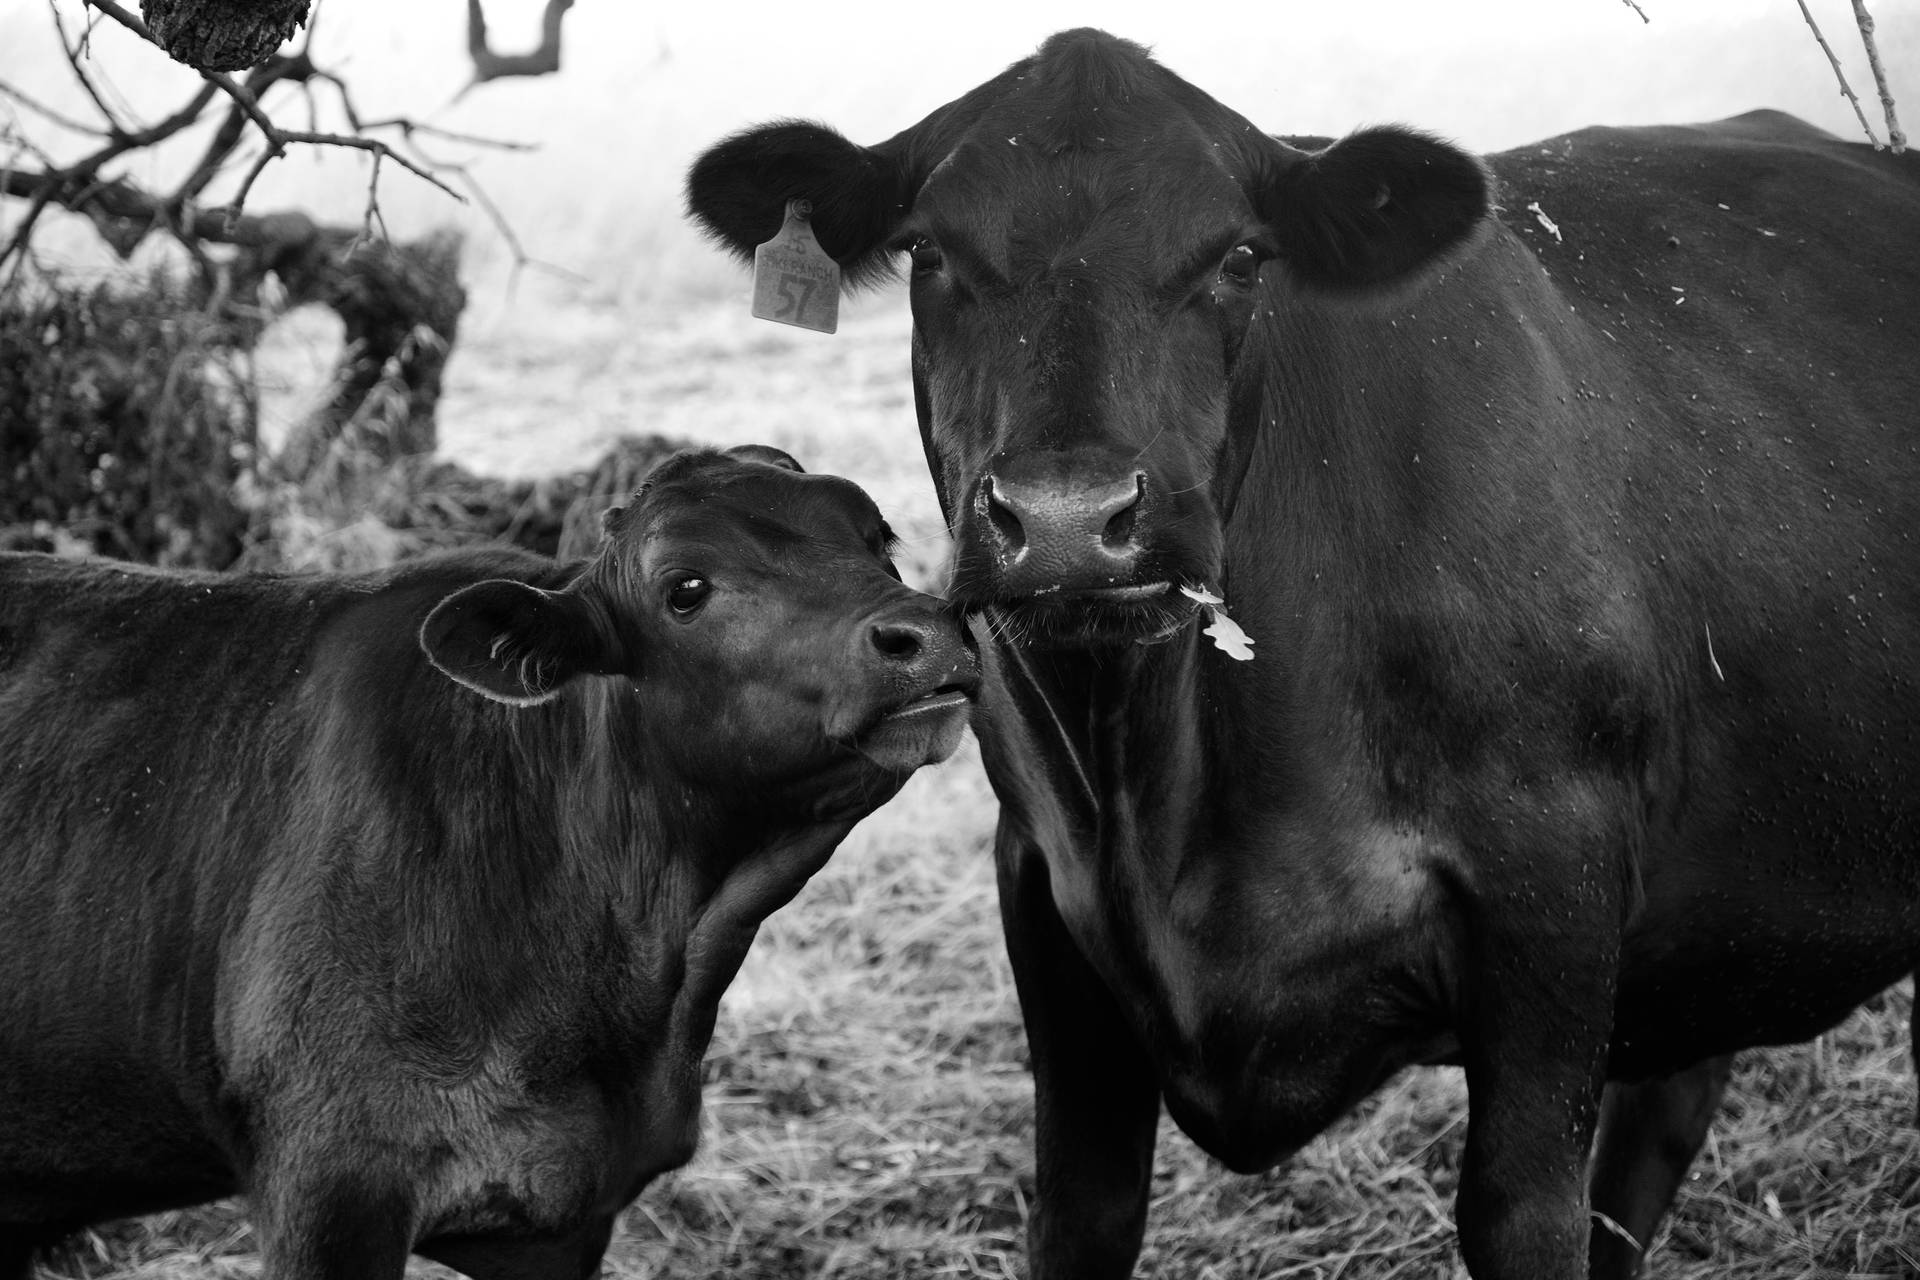
[[[1603,873],[1551,879],[1501,887],[1465,919],[1469,1115],[1457,1221],[1475,1280],[1586,1278],[1586,1171],[1613,1032],[1620,910]]]

